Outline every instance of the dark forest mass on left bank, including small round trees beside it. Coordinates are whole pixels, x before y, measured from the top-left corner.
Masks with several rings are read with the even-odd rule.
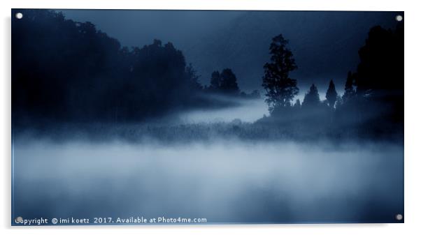
[[[142,121],[175,109],[224,105],[201,93],[247,96],[229,68],[215,71],[203,86],[172,43],[122,47],[91,22],[52,10],[19,11],[24,17],[12,21],[15,122]]]

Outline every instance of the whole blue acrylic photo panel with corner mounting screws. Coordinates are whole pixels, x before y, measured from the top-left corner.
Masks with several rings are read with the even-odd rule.
[[[404,13],[13,9],[12,225],[404,222]]]

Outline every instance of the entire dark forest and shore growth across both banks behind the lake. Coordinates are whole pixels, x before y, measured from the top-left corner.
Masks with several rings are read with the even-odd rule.
[[[234,105],[215,96],[259,98],[241,91],[235,71],[198,75],[172,43],[154,40],[122,47],[90,22],[74,22],[51,10],[21,10],[12,23],[12,116],[15,128],[38,124],[83,126],[131,123],[185,109]],[[14,13],[13,13],[14,14]],[[282,33],[275,32],[274,34]],[[399,137],[404,125],[404,25],[374,26],[345,84],[331,81],[320,98],[313,84],[302,103],[296,98],[299,69],[282,34],[269,45],[262,88],[270,116],[255,123],[203,123],[121,128],[119,135],[185,139],[233,135],[246,139],[293,137]],[[208,85],[201,84],[205,76]],[[344,86],[340,96],[336,86]],[[241,119],[241,117],[238,117]],[[75,124],[76,123],[76,124]],[[104,124],[101,124],[104,123]],[[92,125],[91,127],[92,128]],[[98,126],[94,127],[98,128]],[[91,130],[91,129],[90,129]],[[104,131],[103,131],[104,132]],[[113,131],[108,130],[110,135]],[[171,137],[171,133],[177,133]]]

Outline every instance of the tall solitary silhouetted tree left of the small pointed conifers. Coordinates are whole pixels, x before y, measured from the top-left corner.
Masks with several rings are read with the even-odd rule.
[[[269,47],[271,63],[264,65],[262,86],[266,90],[266,103],[271,113],[278,107],[290,106],[299,91],[297,80],[289,77],[297,66],[287,43],[282,34],[273,38]]]

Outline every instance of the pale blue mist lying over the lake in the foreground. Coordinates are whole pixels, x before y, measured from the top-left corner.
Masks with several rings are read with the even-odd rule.
[[[393,144],[15,141],[13,214],[207,222],[394,222],[404,151]]]

